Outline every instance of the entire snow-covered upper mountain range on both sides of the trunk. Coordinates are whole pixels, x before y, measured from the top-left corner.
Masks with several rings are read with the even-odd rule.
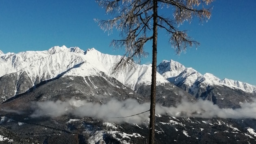
[[[20,53],[1,54],[0,77],[26,72],[31,83],[37,83],[54,78],[65,72],[63,76],[97,76],[99,72],[116,78],[124,85],[137,91],[142,84],[151,84],[151,65],[135,64],[135,68],[128,72],[111,74],[111,68],[122,56],[100,53],[96,49],[83,51],[79,47],[54,46],[47,51],[26,51]],[[231,89],[241,89],[247,93],[255,93],[256,86],[240,81],[220,80],[210,73],[200,74],[193,68],[186,68],[174,60],[163,60],[157,66],[157,85],[174,83],[178,87],[185,85],[184,90],[190,93],[198,93],[199,87],[212,85],[226,86]],[[200,85],[200,86],[199,86]]]

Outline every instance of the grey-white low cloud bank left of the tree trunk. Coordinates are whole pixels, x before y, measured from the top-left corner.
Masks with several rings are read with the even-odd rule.
[[[112,99],[106,104],[99,104],[87,102],[86,100],[71,99],[65,102],[60,100],[57,100],[56,102],[36,102],[33,104],[33,108],[35,108],[35,112],[33,112],[31,117],[57,117],[65,114],[72,114],[74,116],[87,116],[116,123],[142,123],[143,121],[148,120],[149,112],[127,118],[114,117],[125,117],[147,111],[150,109],[150,103],[139,104],[136,100],[133,99],[127,99],[121,102]]]

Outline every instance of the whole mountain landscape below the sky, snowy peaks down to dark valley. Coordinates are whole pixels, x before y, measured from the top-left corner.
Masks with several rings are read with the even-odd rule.
[[[0,143],[148,143],[151,66],[111,75],[119,58],[65,46],[2,54]],[[156,143],[256,142],[254,86],[172,60],[158,72]]]

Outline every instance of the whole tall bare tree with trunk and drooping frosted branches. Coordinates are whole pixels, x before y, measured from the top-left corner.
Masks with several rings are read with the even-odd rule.
[[[191,22],[193,17],[200,21],[210,18],[210,9],[205,8],[213,0],[96,0],[99,6],[106,9],[112,19],[98,20],[100,28],[120,31],[121,40],[113,40],[111,45],[125,48],[124,57],[114,66],[114,71],[131,68],[131,64],[140,63],[141,58],[148,55],[144,51],[144,44],[152,40],[152,83],[150,104],[150,144],[154,144],[155,104],[156,104],[156,56],[158,29],[166,30],[169,34],[171,47],[177,54],[186,51],[187,47],[200,43],[192,40],[186,30],[179,30],[178,25],[184,21]],[[158,13],[158,9],[165,9],[165,14]]]

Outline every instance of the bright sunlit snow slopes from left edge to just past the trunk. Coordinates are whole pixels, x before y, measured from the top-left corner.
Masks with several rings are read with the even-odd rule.
[[[78,47],[52,47],[48,51],[26,51],[0,55],[0,77],[11,73],[26,72],[32,83],[63,76],[97,76],[104,72],[124,85],[135,89],[136,85],[151,84],[151,66],[135,65],[130,72],[111,75],[112,66],[121,56],[107,55],[96,49],[83,51]],[[157,74],[157,83],[169,83]]]

